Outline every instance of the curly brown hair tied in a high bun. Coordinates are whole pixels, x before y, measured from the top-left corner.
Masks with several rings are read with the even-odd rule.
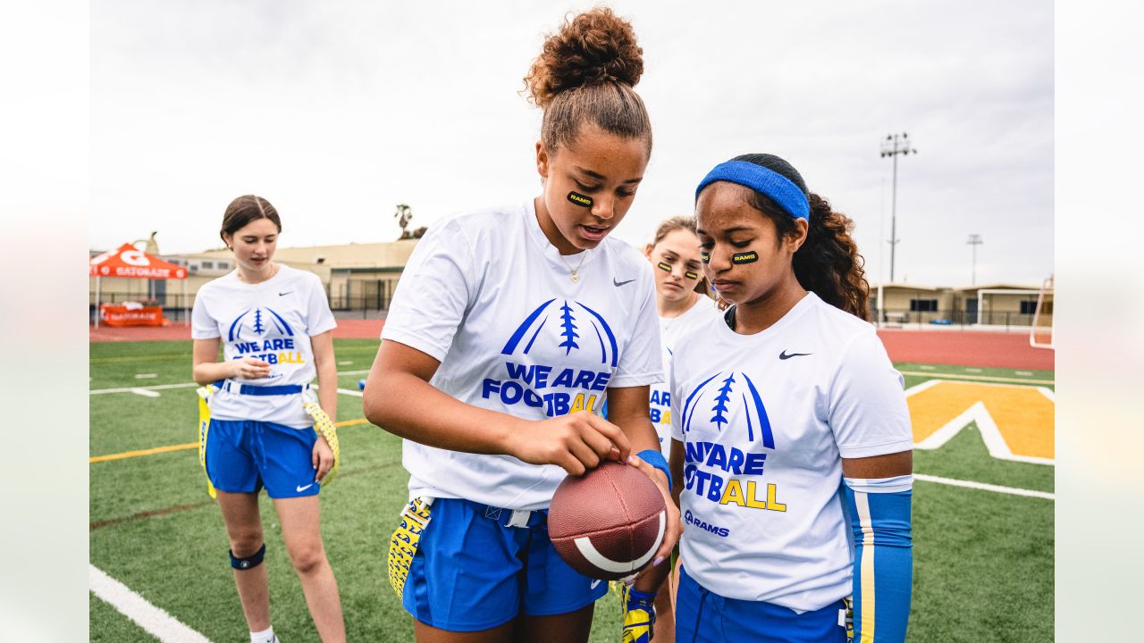
[[[541,141],[549,150],[575,142],[589,122],[625,138],[643,138],[651,152],[651,119],[634,87],[643,49],[631,24],[597,7],[565,18],[545,40],[524,78],[529,100],[545,110]]]

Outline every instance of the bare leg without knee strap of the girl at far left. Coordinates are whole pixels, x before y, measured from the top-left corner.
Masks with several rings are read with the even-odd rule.
[[[321,545],[318,497],[275,499],[275,510],[278,511],[283,540],[286,541],[294,571],[302,581],[302,593],[305,594],[318,636],[325,643],[342,643],[345,641],[345,621],[342,619],[334,570]]]

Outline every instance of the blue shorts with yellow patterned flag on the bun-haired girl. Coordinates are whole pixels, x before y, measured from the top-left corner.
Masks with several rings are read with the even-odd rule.
[[[607,581],[588,578],[559,557],[545,513],[534,511],[531,526],[506,526],[511,510],[470,500],[438,498],[422,511],[414,519],[424,527],[414,530],[420,533],[412,545],[403,517],[389,566],[405,610],[426,625],[479,632],[522,613],[574,612],[607,593]],[[398,578],[395,566],[405,570]]]

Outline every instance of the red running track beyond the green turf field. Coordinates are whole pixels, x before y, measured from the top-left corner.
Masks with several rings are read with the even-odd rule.
[[[381,319],[339,319],[337,339],[376,339]],[[1027,333],[985,333],[976,331],[897,331],[877,332],[893,362],[948,364],[993,368],[1052,371],[1054,351],[1028,346]],[[182,324],[162,327],[116,328],[89,327],[93,342],[137,342],[191,339],[191,330]]]

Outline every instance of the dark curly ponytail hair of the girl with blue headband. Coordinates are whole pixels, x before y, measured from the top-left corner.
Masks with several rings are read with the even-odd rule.
[[[868,319],[869,284],[866,281],[865,260],[858,254],[858,244],[851,236],[853,221],[834,212],[829,201],[808,190],[802,175],[779,157],[742,154],[731,160],[748,161],[777,172],[807,195],[810,229],[807,240],[794,253],[794,276],[803,288],[826,303]],[[748,203],[774,222],[780,239],[794,233],[795,220],[765,195],[752,190]]]

